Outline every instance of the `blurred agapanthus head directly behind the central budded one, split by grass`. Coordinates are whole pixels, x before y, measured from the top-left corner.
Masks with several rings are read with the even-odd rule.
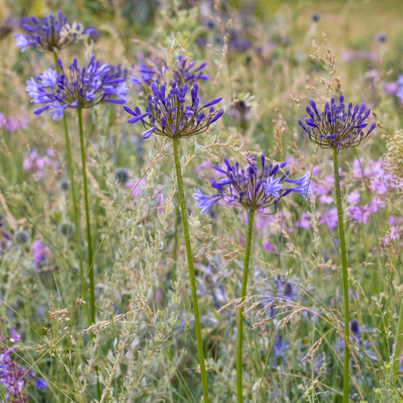
[[[161,66],[158,66],[161,64]],[[203,69],[206,66],[206,62],[201,63],[194,68],[195,62],[190,61],[187,57],[179,55],[176,59],[176,66],[173,68],[173,79],[179,86],[184,84],[191,85],[198,80],[209,80],[209,76],[203,73]],[[159,85],[165,84],[164,72],[168,70],[168,64],[165,61],[160,63],[148,61],[140,61],[135,66],[135,73],[129,77],[130,84],[140,85],[146,83],[150,85],[155,82]]]

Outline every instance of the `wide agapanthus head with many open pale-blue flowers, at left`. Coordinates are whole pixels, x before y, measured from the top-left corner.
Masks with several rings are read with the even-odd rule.
[[[126,99],[128,88],[123,76],[116,77],[116,69],[112,70],[107,63],[100,65],[92,55],[87,68],[80,69],[77,59],[63,72],[60,59],[57,63],[62,73],[48,69],[27,81],[26,90],[32,98],[31,102],[46,104],[34,110],[35,114],[49,109],[53,119],[63,117],[64,109],[90,108],[100,102],[122,104]]]

